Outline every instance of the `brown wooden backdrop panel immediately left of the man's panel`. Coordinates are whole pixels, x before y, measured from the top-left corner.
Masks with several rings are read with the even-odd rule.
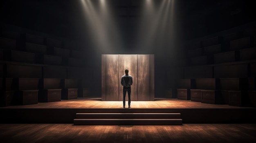
[[[118,101],[118,55],[106,55],[106,100]]]

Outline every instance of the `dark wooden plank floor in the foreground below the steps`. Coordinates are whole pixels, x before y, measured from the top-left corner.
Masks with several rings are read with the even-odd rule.
[[[256,124],[0,124],[0,143],[255,143]]]

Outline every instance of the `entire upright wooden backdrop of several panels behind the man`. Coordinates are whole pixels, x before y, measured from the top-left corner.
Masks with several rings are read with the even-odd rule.
[[[121,76],[129,69],[132,101],[155,100],[154,55],[101,55],[101,100],[122,101]],[[126,93],[127,94],[127,93]],[[128,101],[128,95],[126,95]]]

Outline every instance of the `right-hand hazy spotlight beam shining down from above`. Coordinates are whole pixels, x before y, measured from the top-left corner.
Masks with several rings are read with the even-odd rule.
[[[142,20],[138,28],[140,31],[138,44],[139,47],[143,47],[143,51],[150,49],[149,52],[155,53],[170,48],[174,34],[174,0],[162,0],[159,6],[153,2],[153,0],[144,1]]]

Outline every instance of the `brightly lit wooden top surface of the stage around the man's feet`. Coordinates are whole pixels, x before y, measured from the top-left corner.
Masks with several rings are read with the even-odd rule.
[[[128,107],[126,101],[126,107]],[[38,103],[23,106],[7,106],[3,108],[122,108],[123,101],[101,101],[100,98],[78,98],[57,102]],[[131,101],[132,108],[247,108],[194,102],[179,99],[155,99],[155,101]]]

